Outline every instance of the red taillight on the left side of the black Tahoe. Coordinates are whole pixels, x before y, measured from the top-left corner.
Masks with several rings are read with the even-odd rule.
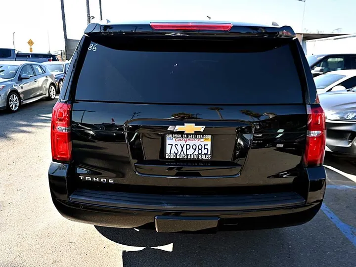
[[[52,159],[59,161],[71,160],[72,140],[70,136],[71,105],[57,102],[52,111],[51,148]]]

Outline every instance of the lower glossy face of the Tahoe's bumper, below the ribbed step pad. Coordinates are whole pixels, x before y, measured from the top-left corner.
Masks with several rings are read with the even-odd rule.
[[[321,202],[300,207],[283,209],[230,211],[230,212],[166,212],[152,210],[132,210],[123,208],[101,207],[95,205],[73,203],[71,201],[53,200],[59,213],[75,222],[89,223],[100,226],[120,228],[155,228],[155,217],[169,218],[177,215],[181,220],[189,218],[194,225],[194,219],[219,218],[219,231],[267,229],[286,227],[307,223],[320,209]],[[176,229],[180,231],[181,229]],[[203,230],[203,229],[202,229]]]

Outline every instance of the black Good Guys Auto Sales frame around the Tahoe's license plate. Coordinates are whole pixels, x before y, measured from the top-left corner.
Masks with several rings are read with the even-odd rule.
[[[202,145],[205,143],[206,143],[206,145],[208,145],[206,147],[206,148],[208,148],[208,153],[207,154],[203,154],[203,153],[202,154],[167,153],[168,137],[178,138],[178,139],[197,139],[197,140],[204,139],[204,141],[201,141],[201,142],[202,142]],[[165,140],[164,140],[164,159],[165,160],[211,160],[213,157],[213,136],[211,134],[165,134],[164,138],[165,138]],[[209,139],[209,141],[208,141],[208,139]],[[194,143],[197,143],[198,141],[190,141],[189,144],[191,144],[192,142],[194,144]],[[179,147],[179,149],[180,148],[181,147]],[[204,145],[203,145],[203,149],[204,149]],[[170,156],[167,157],[167,155],[170,155]],[[176,157],[173,157],[173,155],[176,155]],[[180,155],[185,155],[185,157],[184,156],[180,157]],[[197,156],[188,156],[188,155],[197,155]]]

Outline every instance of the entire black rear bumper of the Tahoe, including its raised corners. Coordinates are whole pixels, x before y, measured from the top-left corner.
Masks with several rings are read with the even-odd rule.
[[[324,167],[317,167],[306,169],[309,177],[306,197],[295,192],[177,196],[84,189],[67,194],[66,167],[52,163],[48,174],[52,200],[59,213],[76,222],[121,228],[156,227],[158,230],[157,222],[165,222],[165,218],[184,221],[187,230],[203,230],[196,228],[197,221],[215,220],[211,218],[216,218],[216,224],[209,229],[214,231],[298,225],[310,221],[318,212],[326,187]],[[173,223],[171,231],[184,230],[178,225],[182,224]]]

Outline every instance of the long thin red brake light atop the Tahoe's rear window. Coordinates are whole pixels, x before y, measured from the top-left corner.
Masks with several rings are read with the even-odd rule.
[[[181,30],[181,31],[224,31],[228,32],[231,23],[195,23],[195,22],[151,22],[153,30]]]

